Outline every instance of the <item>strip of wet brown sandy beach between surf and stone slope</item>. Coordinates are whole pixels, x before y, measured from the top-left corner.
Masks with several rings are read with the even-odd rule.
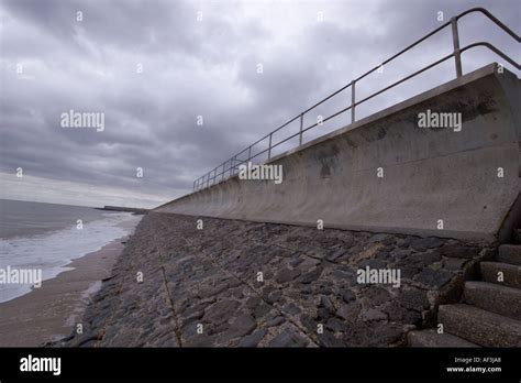
[[[44,281],[41,288],[0,304],[0,347],[37,347],[70,335],[81,319],[101,281],[111,276],[138,219],[133,217],[120,226],[130,230],[102,249],[74,260],[65,271]],[[74,244],[71,244],[74,245]]]

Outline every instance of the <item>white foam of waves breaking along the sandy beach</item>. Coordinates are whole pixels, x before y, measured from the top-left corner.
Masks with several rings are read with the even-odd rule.
[[[73,270],[66,267],[73,260],[100,250],[107,243],[129,234],[119,226],[123,221],[140,220],[129,212],[103,214],[103,219],[84,223],[82,229],[68,229],[31,238],[0,239],[0,269],[41,269],[42,280]],[[1,284],[0,303],[27,294],[29,284]]]

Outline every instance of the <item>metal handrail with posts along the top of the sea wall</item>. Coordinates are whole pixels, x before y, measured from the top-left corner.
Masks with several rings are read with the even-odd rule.
[[[385,92],[386,90],[389,90],[390,88],[393,88],[396,87],[397,85],[400,85],[404,81],[407,81],[408,79],[414,77],[414,76],[418,76],[419,74],[425,72],[425,70],[429,70],[431,69],[432,67],[454,57],[454,62],[455,62],[455,69],[456,69],[456,78],[459,78],[463,76],[463,69],[462,69],[462,53],[465,52],[465,51],[468,51],[470,48],[474,48],[474,47],[477,47],[477,46],[484,46],[488,50],[490,50],[491,52],[496,53],[498,56],[500,56],[502,59],[505,59],[506,62],[508,62],[510,65],[514,66],[516,68],[520,69],[521,70],[521,65],[518,64],[517,62],[514,62],[512,58],[510,58],[508,55],[506,55],[503,52],[501,52],[500,50],[498,50],[496,46],[494,46],[492,44],[488,43],[488,42],[477,42],[477,43],[473,43],[473,44],[469,44],[463,48],[459,47],[459,34],[458,34],[458,29],[457,29],[457,22],[459,19],[462,19],[463,17],[469,14],[469,13],[473,13],[473,12],[480,12],[483,13],[485,17],[487,17],[489,20],[491,20],[496,25],[498,25],[500,29],[502,29],[506,33],[508,33],[511,37],[513,37],[518,43],[521,42],[521,37],[516,34],[512,30],[510,30],[506,24],[503,24],[499,19],[497,19],[494,14],[491,14],[489,11],[487,11],[486,9],[484,8],[472,8],[467,11],[464,11],[462,13],[459,13],[458,15],[455,15],[451,19],[451,21],[447,21],[445,22],[444,24],[440,25],[439,28],[436,28],[435,30],[431,31],[430,33],[428,33],[426,35],[424,35],[423,37],[417,40],[414,43],[408,45],[407,47],[404,47],[403,50],[401,50],[400,52],[396,53],[395,55],[392,55],[391,57],[387,58],[386,61],[381,62],[379,65],[375,66],[374,68],[367,70],[366,73],[364,73],[363,75],[361,75],[359,77],[353,79],[351,83],[348,83],[347,85],[343,86],[342,88],[335,90],[334,92],[332,92],[331,95],[329,95],[328,97],[323,98],[322,100],[320,100],[319,102],[314,103],[313,106],[309,107],[308,109],[303,110],[302,112],[300,112],[299,114],[297,114],[296,117],[293,117],[292,119],[290,119],[289,121],[285,122],[284,124],[281,124],[280,127],[278,127],[277,129],[275,129],[274,131],[269,132],[268,134],[264,135],[263,138],[258,139],[257,141],[255,141],[253,144],[251,144],[250,146],[245,147],[244,150],[242,150],[241,152],[236,153],[235,155],[233,155],[231,158],[224,161],[222,164],[218,165],[217,167],[214,167],[213,169],[211,169],[210,172],[206,173],[204,175],[202,175],[201,177],[197,178],[195,182],[193,182],[193,190],[200,190],[202,188],[206,188],[206,187],[209,187],[213,184],[217,183],[218,180],[218,177],[221,177],[221,180],[224,179],[225,177],[225,174],[226,173],[230,173],[229,176],[233,176],[235,174],[235,171],[237,169],[237,167],[243,164],[243,163],[246,163],[246,162],[250,162],[252,161],[253,158],[259,156],[259,155],[263,155],[265,154],[266,152],[268,153],[268,160],[271,157],[271,150],[296,136],[299,136],[299,145],[302,145],[302,134],[304,132],[307,132],[308,130],[310,129],[313,129],[318,125],[321,125],[323,124],[324,122],[346,112],[347,110],[351,109],[351,123],[354,123],[356,120],[355,120],[355,109],[358,105]],[[370,75],[372,73],[374,73],[375,70],[378,70],[378,68],[383,67],[384,65],[390,63],[391,61],[393,61],[395,58],[397,58],[398,56],[402,55],[403,53],[408,52],[409,50],[413,48],[414,46],[419,45],[420,43],[424,42],[426,39],[431,37],[432,35],[436,34],[437,32],[444,30],[445,28],[447,28],[448,25],[451,25],[451,29],[452,29],[452,37],[453,37],[453,52],[437,61],[435,61],[434,63],[414,72],[413,74],[411,75],[408,75],[401,79],[399,79],[398,81],[395,81],[392,83],[391,85],[365,97],[364,99],[362,100],[358,100],[356,101],[356,83],[358,83],[359,80],[364,79],[365,77],[367,77],[368,75]],[[303,128],[303,117],[306,113],[308,113],[309,111],[315,109],[317,107],[321,106],[322,103],[324,103],[325,101],[330,100],[331,98],[333,98],[334,96],[339,95],[340,92],[344,91],[345,89],[350,88],[351,87],[351,105],[336,111],[335,113],[322,119],[320,122],[317,122],[310,127],[307,127],[307,128]],[[282,141],[279,141],[277,143],[273,143],[273,135],[274,133],[277,133],[278,131],[280,131],[281,129],[286,128],[288,124],[290,124],[291,122],[295,122],[296,120],[300,120],[300,129],[297,133],[295,134],[291,134],[290,136],[284,139]],[[268,147],[252,155],[252,147],[255,146],[256,144],[263,142],[264,140],[268,139]],[[297,146],[297,147],[298,147]],[[247,152],[247,158],[246,160],[241,160],[237,157],[241,156],[242,154],[244,154],[245,152]],[[230,166],[226,167],[228,163],[230,163]],[[222,167],[222,171],[221,173],[217,173],[217,171],[219,168]],[[211,176],[211,174],[213,173],[213,176]]]

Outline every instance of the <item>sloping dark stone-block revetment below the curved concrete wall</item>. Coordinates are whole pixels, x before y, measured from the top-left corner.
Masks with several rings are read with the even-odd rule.
[[[457,240],[213,218],[198,230],[198,219],[146,215],[84,333],[63,344],[401,346],[483,253]],[[400,286],[358,283],[366,266],[400,270]]]

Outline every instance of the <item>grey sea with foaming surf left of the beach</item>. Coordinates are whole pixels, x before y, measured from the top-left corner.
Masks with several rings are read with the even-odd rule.
[[[131,212],[0,199],[0,276],[38,271],[42,281],[71,270],[75,259],[128,236],[141,219]],[[3,282],[4,282],[3,281]],[[27,294],[31,283],[2,283],[0,303]]]

